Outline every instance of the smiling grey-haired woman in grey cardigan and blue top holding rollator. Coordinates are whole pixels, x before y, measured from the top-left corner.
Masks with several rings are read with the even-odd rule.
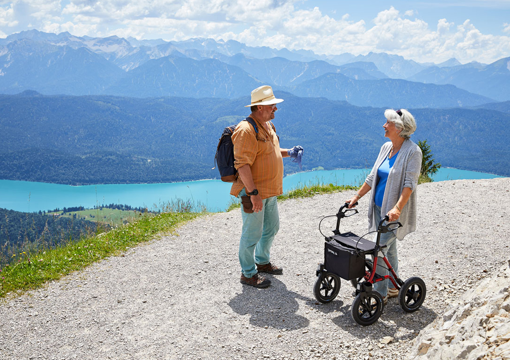
[[[379,221],[388,215],[389,221],[399,221],[402,227],[381,234],[380,244],[386,245],[386,257],[398,275],[396,240],[416,229],[416,186],[421,169],[422,153],[418,145],[410,140],[416,130],[413,116],[405,109],[387,109],[384,113],[387,121],[382,127],[389,142],[382,145],[372,171],[367,176],[358,193],[347,200],[349,208],[370,192],[368,206],[369,231],[376,231]],[[384,261],[377,261],[377,274],[388,275]],[[386,304],[388,297],[398,296],[398,290],[388,289],[388,280],[374,284]]]

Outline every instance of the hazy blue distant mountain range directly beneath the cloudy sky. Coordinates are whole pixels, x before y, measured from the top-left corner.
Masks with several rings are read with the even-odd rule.
[[[92,38],[31,30],[0,39],[0,92],[232,99],[269,84],[360,106],[461,107],[510,100],[509,63],[510,58],[489,65],[460,65],[455,59],[420,64],[387,53],[324,56],[233,40]]]

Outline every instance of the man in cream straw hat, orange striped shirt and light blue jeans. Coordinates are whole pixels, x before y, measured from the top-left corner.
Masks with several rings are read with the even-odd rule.
[[[251,92],[251,114],[257,125],[241,121],[234,133],[234,166],[239,173],[230,193],[241,198],[243,229],[239,242],[241,283],[257,288],[268,287],[269,279],[260,275],[283,273],[283,268],[270,262],[270,250],[279,229],[276,197],[283,193],[283,157],[290,156],[301,163],[303,148],[280,148],[271,120],[277,110],[277,99],[270,86],[261,86]]]

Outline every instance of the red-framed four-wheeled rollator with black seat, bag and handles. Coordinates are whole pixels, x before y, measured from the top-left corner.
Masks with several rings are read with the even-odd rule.
[[[360,325],[370,325],[379,319],[384,309],[382,295],[373,290],[373,284],[388,279],[399,291],[400,307],[408,313],[418,310],[425,299],[425,283],[417,276],[402,281],[386,258],[386,245],[380,245],[381,234],[394,231],[402,225],[398,222],[385,225],[389,217],[384,216],[377,226],[375,242],[351,232],[340,233],[340,220],[358,213],[358,210],[349,209],[347,206],[347,203],[344,204],[336,214],[337,226],[333,230],[334,235],[324,237],[324,263],[319,264],[316,271],[315,298],[323,303],[333,301],[340,290],[340,278],[350,280],[356,289],[351,309],[352,318]],[[347,215],[350,211],[353,213]],[[379,258],[384,261],[391,275],[376,273]]]

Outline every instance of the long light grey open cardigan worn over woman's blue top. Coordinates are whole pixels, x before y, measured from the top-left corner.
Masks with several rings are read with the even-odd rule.
[[[377,170],[385,158],[389,155],[392,148],[391,141],[382,145],[375,160],[372,171],[365,179],[367,185],[372,188],[370,191],[370,203],[368,206],[368,231],[377,230],[374,219],[374,195],[375,186],[379,180]],[[413,192],[407,204],[403,207],[398,221],[402,227],[395,231],[397,239],[402,240],[405,235],[412,233],[416,229],[416,186],[418,185],[418,177],[421,169],[421,149],[411,140],[406,139],[398,152],[393,167],[390,169],[384,198],[382,199],[381,217],[385,216],[397,203],[404,187],[409,187]]]

